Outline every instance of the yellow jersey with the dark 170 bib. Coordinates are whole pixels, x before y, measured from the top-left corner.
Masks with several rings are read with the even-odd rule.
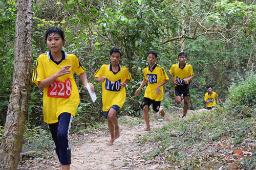
[[[96,71],[94,77],[101,78],[102,76],[106,77],[105,81],[102,82],[102,110],[109,111],[113,105],[117,105],[121,109],[125,102],[126,92],[125,88],[120,86],[120,83],[126,80],[133,80],[129,70],[119,65],[118,72],[114,73],[111,63],[103,64]]]

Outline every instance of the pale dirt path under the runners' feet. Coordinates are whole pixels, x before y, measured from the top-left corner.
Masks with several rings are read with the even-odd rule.
[[[159,128],[169,121],[168,115],[164,118],[152,116],[151,128]],[[110,140],[107,127],[90,134],[71,135],[71,169],[159,169],[169,166],[163,161],[159,162],[159,157],[144,160],[145,156],[150,155],[154,148],[158,147],[158,143],[138,142],[142,140],[141,137],[148,136],[149,133],[141,131],[145,128],[144,120],[141,124],[133,123],[132,126],[129,123],[120,124],[119,120],[119,125],[120,137],[111,146],[106,145]],[[61,169],[56,154],[52,153],[54,156],[51,158],[31,158],[20,164],[18,169]]]

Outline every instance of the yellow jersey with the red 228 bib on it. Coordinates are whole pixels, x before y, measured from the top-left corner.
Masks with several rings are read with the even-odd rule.
[[[57,65],[50,58],[50,52],[38,56],[32,81],[38,86],[38,82],[52,76],[63,66],[72,65],[71,74],[57,78],[52,84],[44,88],[44,122],[53,124],[58,122],[58,116],[63,112],[76,114],[80,99],[78,89],[74,80],[74,72],[80,75],[84,72],[79,65],[77,57],[73,54],[62,51],[62,61]]]

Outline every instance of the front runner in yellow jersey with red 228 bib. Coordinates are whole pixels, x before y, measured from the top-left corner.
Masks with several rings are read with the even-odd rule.
[[[88,83],[77,57],[61,50],[65,39],[60,28],[49,28],[45,40],[50,52],[38,56],[32,81],[44,90],[44,122],[49,125],[62,169],[68,170],[71,164],[69,132],[80,103],[74,72],[80,76],[84,89],[87,90],[89,84],[94,92],[94,86]]]

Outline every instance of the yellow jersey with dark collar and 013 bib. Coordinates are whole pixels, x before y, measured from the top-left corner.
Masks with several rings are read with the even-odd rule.
[[[155,64],[152,67],[153,71],[146,67],[143,69],[144,79],[147,80],[147,87],[145,90],[144,98],[150,98],[155,101],[163,100],[163,86],[160,87],[162,93],[160,95],[156,94],[157,86],[164,80],[169,80],[168,76],[163,67]]]

